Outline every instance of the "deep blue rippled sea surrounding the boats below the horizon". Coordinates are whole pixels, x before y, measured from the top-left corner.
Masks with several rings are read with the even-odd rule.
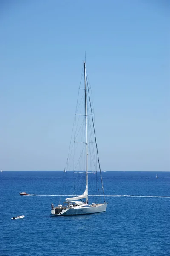
[[[170,172],[102,176],[106,212],[52,216],[63,171],[1,172],[0,256],[170,256]]]

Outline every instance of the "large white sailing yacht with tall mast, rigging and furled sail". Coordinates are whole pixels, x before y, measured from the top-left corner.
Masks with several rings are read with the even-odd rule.
[[[82,73],[83,76],[83,73]],[[79,88],[82,89],[82,88]],[[85,178],[85,182],[84,182],[84,186],[85,186],[85,190],[84,193],[81,195],[77,195],[77,194],[73,194],[72,197],[70,198],[66,198],[66,202],[64,202],[63,204],[58,204],[57,207],[52,207],[51,210],[51,214],[52,215],[80,215],[80,214],[92,214],[92,213],[98,213],[98,212],[105,212],[106,211],[106,207],[107,207],[107,203],[105,201],[105,196],[104,196],[104,186],[103,186],[103,180],[102,180],[102,175],[101,175],[101,167],[100,167],[100,162],[99,162],[99,156],[98,156],[98,147],[97,147],[97,142],[96,142],[96,134],[95,134],[95,125],[94,125],[94,118],[93,115],[94,113],[92,112],[92,104],[91,104],[91,100],[90,100],[90,94],[89,94],[89,86],[88,86],[88,82],[87,82],[87,76],[86,76],[86,63],[84,61],[84,88],[83,88],[83,97],[84,97],[84,103],[82,103],[82,105],[84,106],[84,114],[80,114],[80,113],[76,113],[76,116],[83,116],[84,120],[82,122],[83,125],[83,129],[82,131],[84,131],[84,137],[82,138],[82,142],[80,141],[75,141],[78,137],[74,138],[74,143],[79,143],[79,145],[81,144],[81,152],[83,153],[83,165],[84,165],[84,172],[82,172],[82,177]],[[89,105],[88,105],[89,104]],[[77,103],[78,105],[78,103]],[[91,120],[92,125],[89,125],[89,120]],[[88,128],[92,128],[92,133],[88,131]],[[76,129],[75,129],[76,130]],[[77,129],[78,130],[78,129]],[[92,134],[93,136],[93,140],[92,137],[90,137]],[[92,140],[92,141],[88,141]],[[92,145],[93,148],[95,148],[95,154],[92,154],[92,150],[90,148],[90,144]],[[75,155],[75,154],[74,154]],[[90,162],[90,157],[92,155],[96,156],[96,161],[92,161]],[[69,157],[67,158],[67,160],[69,160]],[[78,157],[78,160],[80,160],[80,157]],[[96,163],[95,163],[96,162]],[[103,194],[103,199],[104,202],[97,202],[95,201],[95,203],[91,203],[89,204],[89,187],[88,187],[88,182],[89,182],[89,175],[90,173],[94,173],[92,172],[92,170],[88,170],[88,167],[90,166],[91,168],[91,163],[94,163],[98,166],[98,171],[99,171],[99,176],[100,176],[100,189],[97,189],[98,192],[100,191]],[[74,160],[74,164],[75,164],[75,160]],[[76,164],[77,166],[78,164]],[[65,169],[64,169],[65,170]],[[72,169],[74,172],[79,175],[79,173],[81,173],[81,170],[78,169],[78,171],[76,172],[76,168]],[[80,171],[80,172],[79,172]],[[95,170],[95,173],[97,174],[97,169]],[[97,178],[97,175],[90,175],[93,178]],[[83,192],[83,191],[82,191]],[[101,195],[99,195],[101,199]]]

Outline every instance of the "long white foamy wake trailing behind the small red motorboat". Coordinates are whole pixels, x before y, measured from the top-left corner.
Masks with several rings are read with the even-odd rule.
[[[35,195],[30,194],[27,196],[61,196],[61,195]],[[62,196],[78,196],[78,195],[62,195]],[[96,195],[88,195],[88,196],[96,196]],[[99,195],[103,196],[103,195]],[[105,197],[135,197],[135,198],[170,198],[170,196],[159,196],[159,195],[105,195]]]

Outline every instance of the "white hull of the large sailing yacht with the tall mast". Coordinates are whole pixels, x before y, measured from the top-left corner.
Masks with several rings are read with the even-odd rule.
[[[76,207],[70,207],[65,209],[64,207],[51,210],[52,215],[81,215],[81,214],[92,214],[92,213],[98,213],[98,212],[105,212],[106,211],[107,204],[96,204],[95,206],[91,205],[81,205]]]

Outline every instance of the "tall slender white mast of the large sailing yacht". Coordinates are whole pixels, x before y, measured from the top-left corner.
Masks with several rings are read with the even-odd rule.
[[[85,127],[86,127],[86,192],[88,195],[88,162],[87,162],[87,89],[86,89],[86,62],[84,61],[84,93],[85,93]],[[87,198],[86,198],[87,203]]]

